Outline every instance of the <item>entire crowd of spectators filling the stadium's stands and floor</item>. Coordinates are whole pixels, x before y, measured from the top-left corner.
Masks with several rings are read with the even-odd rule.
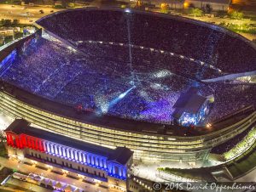
[[[1,78],[47,99],[83,110],[162,123],[172,121],[173,105],[190,87],[197,87],[203,96],[214,95],[209,122],[256,104],[253,85],[200,82],[241,69],[241,65],[234,67],[236,61],[220,64],[222,56],[214,54],[222,50],[224,41],[234,46],[238,41],[231,41],[232,37],[220,31],[119,11],[71,11],[39,23],[73,42],[77,51],[44,37],[33,39],[27,48],[20,48]],[[196,34],[204,34],[207,40],[196,38]],[[222,50],[223,54],[229,48]],[[249,69],[253,65],[242,65],[242,70]]]

